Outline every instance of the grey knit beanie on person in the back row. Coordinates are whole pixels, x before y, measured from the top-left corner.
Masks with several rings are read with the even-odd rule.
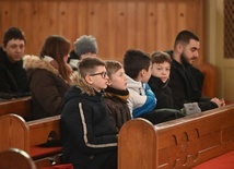
[[[97,43],[96,38],[93,37],[92,35],[83,35],[74,41],[74,52],[78,55],[78,57],[92,52],[92,53],[97,53],[98,48],[97,48]]]

